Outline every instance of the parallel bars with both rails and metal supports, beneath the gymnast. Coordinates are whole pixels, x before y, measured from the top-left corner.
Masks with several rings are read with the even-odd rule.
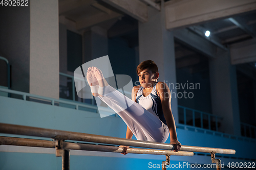
[[[127,153],[165,155],[166,161],[162,162],[162,165],[163,165],[162,169],[166,169],[166,165],[169,164],[170,155],[193,156],[194,155],[193,152],[204,152],[204,153],[211,154],[212,163],[216,163],[217,170],[221,170],[220,160],[215,159],[215,154],[216,153],[220,153],[220,154],[236,153],[235,150],[229,150],[229,149],[193,147],[193,146],[187,146],[187,145],[182,145],[179,152],[174,152],[174,151],[170,151],[170,150],[174,150],[173,144],[141,141],[141,140],[133,140],[133,139],[123,139],[118,137],[101,136],[101,135],[93,135],[93,134],[86,134],[86,133],[52,130],[52,129],[45,129],[45,128],[35,128],[35,127],[29,127],[29,126],[20,126],[20,125],[11,125],[11,124],[2,124],[2,123],[0,123],[0,133],[53,138],[55,141],[0,136],[0,144],[21,145],[21,146],[27,146],[27,147],[55,148],[56,156],[62,157],[62,169],[65,169],[65,170],[69,169],[69,157],[70,157],[69,150],[87,150],[87,151],[116,152],[116,153],[123,152],[123,148],[119,148],[119,147],[64,142],[65,140],[97,142],[97,143],[107,143],[107,144],[115,144],[115,145],[129,145],[132,147],[142,147],[142,148],[154,148],[154,149],[129,148],[127,149]],[[160,149],[160,150],[156,150],[156,149]]]

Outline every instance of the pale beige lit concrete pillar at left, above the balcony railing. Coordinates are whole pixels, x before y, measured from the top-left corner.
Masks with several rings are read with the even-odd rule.
[[[30,1],[29,91],[59,98],[58,0]]]

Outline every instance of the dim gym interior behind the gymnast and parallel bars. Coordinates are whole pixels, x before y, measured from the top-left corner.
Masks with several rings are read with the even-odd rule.
[[[100,118],[87,108],[94,99],[78,98],[73,72],[108,55],[114,74],[136,83],[137,65],[151,59],[172,90],[181,144],[236,150],[217,155],[225,165],[255,162],[255,0],[30,0],[1,5],[0,21],[0,89],[12,91],[0,91],[1,123],[125,138],[120,117]],[[76,151],[70,168],[147,169],[164,159]],[[201,153],[170,159],[211,163]],[[0,169],[60,167],[54,149],[0,145]]]

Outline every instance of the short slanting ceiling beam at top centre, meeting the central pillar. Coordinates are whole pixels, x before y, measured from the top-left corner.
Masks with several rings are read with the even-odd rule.
[[[138,0],[101,0],[127,15],[141,21],[147,21],[147,5]]]

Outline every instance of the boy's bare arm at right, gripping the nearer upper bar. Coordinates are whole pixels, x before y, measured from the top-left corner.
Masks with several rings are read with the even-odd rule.
[[[157,91],[160,96],[164,118],[170,131],[170,144],[175,144],[175,151],[178,152],[180,150],[181,143],[177,138],[175,120],[172,113],[172,107],[170,105],[170,90],[164,82],[160,82],[157,84]]]

